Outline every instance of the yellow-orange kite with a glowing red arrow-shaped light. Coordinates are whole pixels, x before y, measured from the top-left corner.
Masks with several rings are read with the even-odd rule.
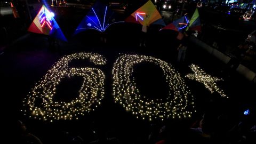
[[[148,1],[146,4],[142,5],[138,10],[126,18],[125,21],[139,23],[144,26],[149,26],[151,24],[165,26],[161,14],[157,11],[156,7],[151,1]]]

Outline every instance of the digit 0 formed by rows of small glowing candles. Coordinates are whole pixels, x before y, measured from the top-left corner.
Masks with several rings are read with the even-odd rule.
[[[133,67],[141,62],[151,62],[163,69],[169,86],[166,99],[150,100],[140,94],[133,77]],[[191,116],[192,111],[188,109],[194,109],[193,95],[180,74],[169,63],[145,55],[122,55],[116,60],[112,74],[115,102],[120,103],[137,118],[148,118],[151,121],[158,118],[164,120]]]

